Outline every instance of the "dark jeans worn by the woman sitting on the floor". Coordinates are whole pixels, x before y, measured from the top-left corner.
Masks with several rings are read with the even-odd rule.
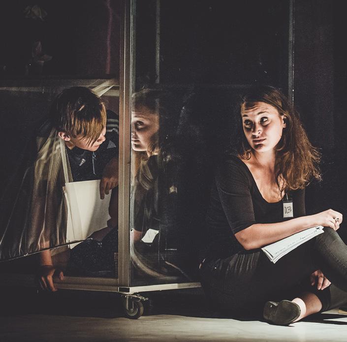
[[[206,260],[200,269],[206,296],[215,309],[233,316],[259,316],[267,301],[291,300],[306,291],[318,296],[322,311],[347,303],[347,246],[331,228],[276,264],[260,249]],[[323,291],[310,284],[317,269],[332,282]]]

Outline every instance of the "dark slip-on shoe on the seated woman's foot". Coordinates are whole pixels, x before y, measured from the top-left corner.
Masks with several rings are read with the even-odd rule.
[[[267,302],[264,306],[263,317],[276,325],[289,325],[300,316],[300,313],[300,307],[296,303],[283,300]]]

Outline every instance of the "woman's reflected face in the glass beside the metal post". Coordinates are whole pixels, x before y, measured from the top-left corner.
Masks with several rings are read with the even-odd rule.
[[[134,151],[148,151],[155,143],[158,130],[158,114],[146,107],[131,112],[131,147]]]

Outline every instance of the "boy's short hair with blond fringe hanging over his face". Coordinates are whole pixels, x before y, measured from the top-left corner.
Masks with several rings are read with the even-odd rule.
[[[63,90],[54,100],[50,114],[58,132],[87,138],[90,144],[95,143],[106,126],[105,105],[85,87]]]

